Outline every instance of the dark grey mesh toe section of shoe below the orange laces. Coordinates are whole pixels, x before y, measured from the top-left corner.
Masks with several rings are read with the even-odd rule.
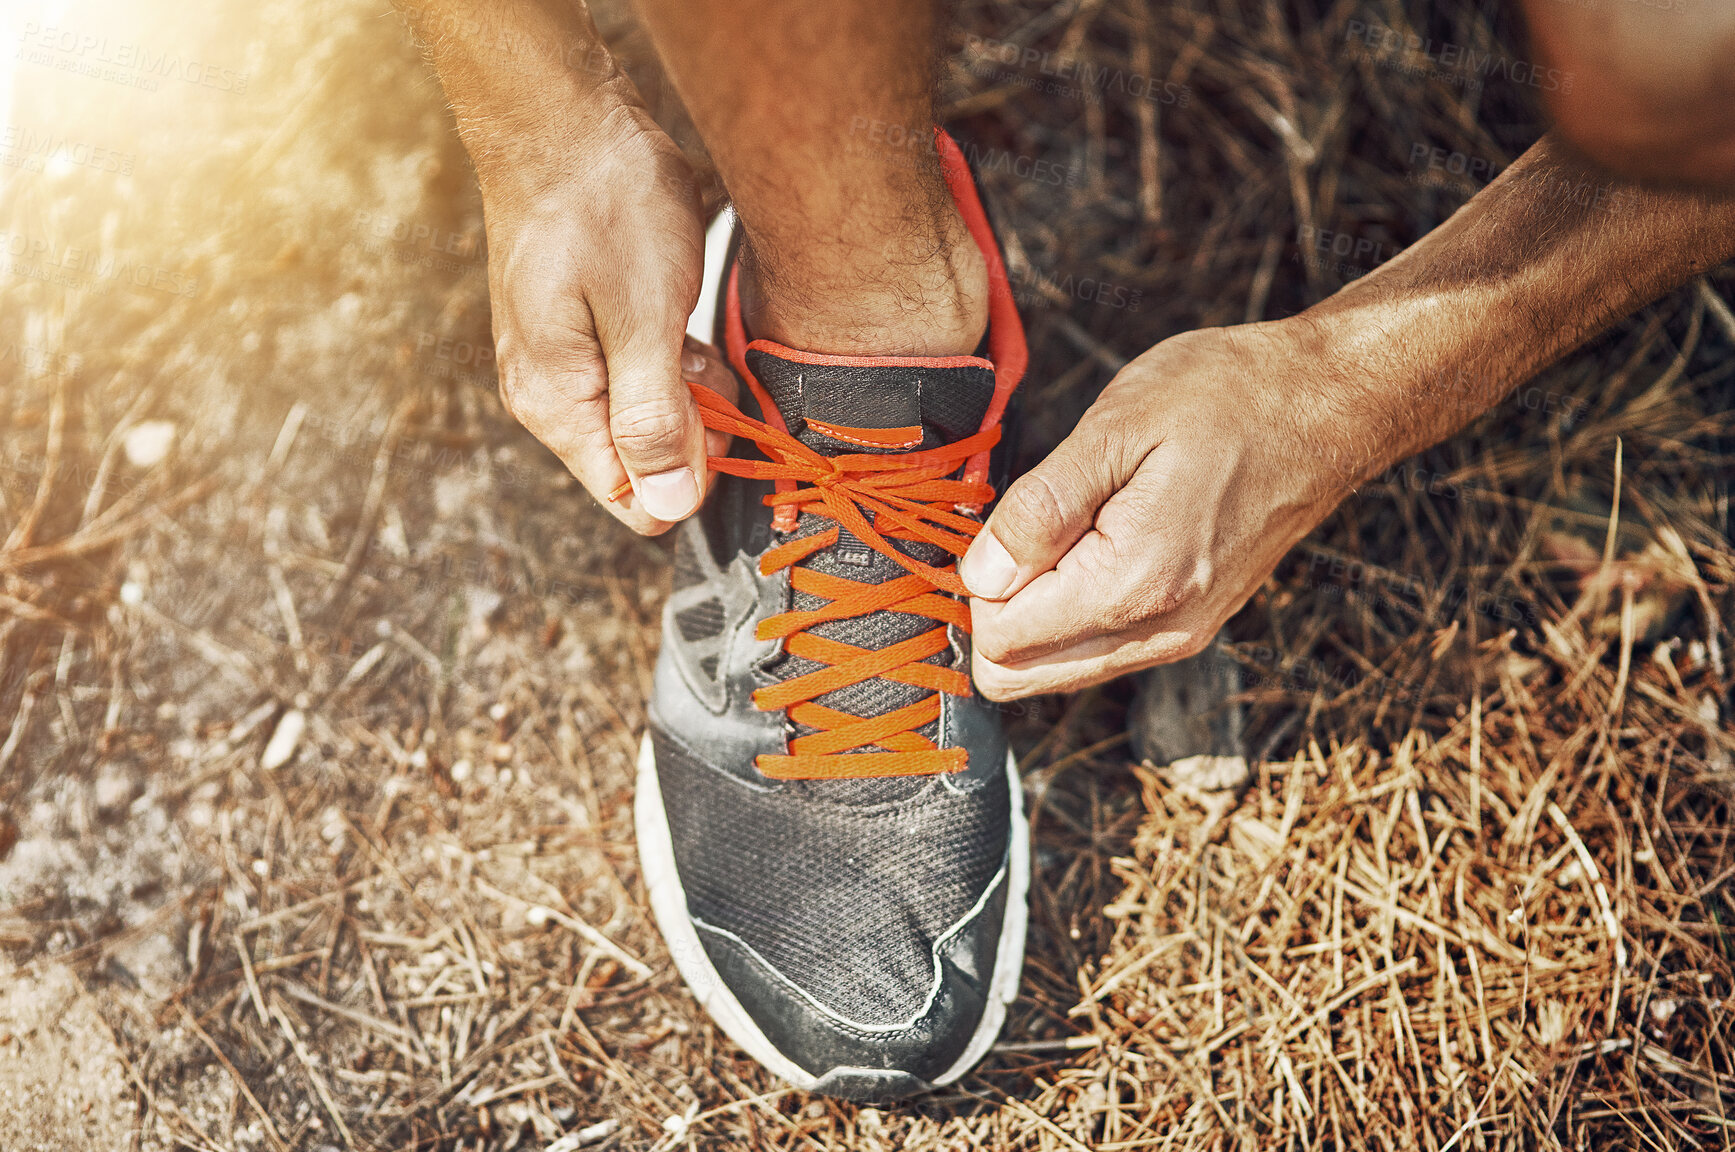
[[[1005,786],[956,793],[928,781],[888,803],[835,803],[717,779],[668,734],[656,739],[687,907],[708,949],[729,940],[864,1036],[918,1029],[946,968],[985,994],[992,949],[982,954],[966,918],[1005,864]]]

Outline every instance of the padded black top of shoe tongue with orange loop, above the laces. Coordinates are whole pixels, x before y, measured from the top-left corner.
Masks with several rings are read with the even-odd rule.
[[[748,349],[748,368],[789,434],[828,456],[953,444],[982,430],[994,399],[979,357],[814,357],[767,344]]]

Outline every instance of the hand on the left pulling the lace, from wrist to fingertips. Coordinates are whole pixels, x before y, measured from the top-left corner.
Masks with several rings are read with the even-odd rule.
[[[684,380],[734,394],[717,349],[682,344],[704,264],[697,191],[642,108],[616,106],[573,149],[564,179],[482,182],[500,394],[604,507],[654,534],[706,481]]]

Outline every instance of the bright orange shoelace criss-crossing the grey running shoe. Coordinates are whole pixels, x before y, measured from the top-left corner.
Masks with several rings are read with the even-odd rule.
[[[824,456],[782,429],[744,416],[711,389],[689,383],[699,403],[704,427],[750,439],[770,460],[711,456],[715,472],[755,481],[793,481],[789,491],[765,496],[770,507],[795,505],[802,512],[822,515],[836,526],[777,545],[760,559],[760,573],[770,576],[791,567],[821,548],[838,543],[841,527],[874,552],[890,557],[906,574],[878,585],[864,585],[841,576],[828,576],[805,567],[789,573],[796,592],[826,600],[810,611],[782,612],[758,625],[760,640],[782,640],[784,651],[824,664],[815,671],[753,692],[762,711],[784,711],[800,725],[814,729],[789,741],[786,756],[758,756],[760,772],[774,779],[859,779],[880,776],[933,776],[961,772],[968,753],[963,748],[937,748],[918,729],[940,715],[940,692],[970,696],[968,670],[925,663],[946,651],[951,640],[946,626],[970,632],[970,595],[958,579],[956,562],[933,567],[899,552],[892,540],[923,540],[961,557],[982,524],[958,514],[958,505],[980,507],[994,498],[984,482],[946,479],[965,460],[987,451],[999,441],[999,425],[972,437],[913,453]],[[868,514],[873,514],[869,520]],[[939,595],[949,592],[951,597]],[[869,612],[909,612],[926,616],[939,626],[885,649],[826,640],[807,630],[828,619],[850,619]],[[814,701],[828,692],[873,680],[874,677],[932,689],[914,704],[880,717],[852,717]],[[852,751],[878,748],[881,751]]]

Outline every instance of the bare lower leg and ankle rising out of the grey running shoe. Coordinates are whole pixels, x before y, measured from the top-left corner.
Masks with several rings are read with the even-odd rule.
[[[987,267],[932,142],[928,0],[638,0],[746,229],[755,337],[972,352]]]

